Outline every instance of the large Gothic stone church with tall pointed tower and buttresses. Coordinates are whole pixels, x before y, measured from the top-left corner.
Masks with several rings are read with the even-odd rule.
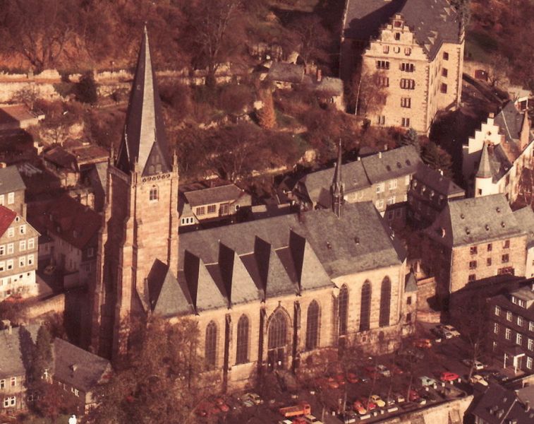
[[[199,353],[225,388],[243,387],[257,372],[294,370],[348,341],[392,350],[413,324],[406,252],[372,202],[345,202],[339,156],[332,208],[178,237],[178,165],[145,30],[107,171],[91,290],[95,352],[123,353],[128,320],[139,313],[198,322]]]

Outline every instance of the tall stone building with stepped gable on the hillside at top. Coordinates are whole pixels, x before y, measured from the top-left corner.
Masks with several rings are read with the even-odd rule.
[[[447,0],[347,0],[342,77],[348,81],[361,61],[362,86],[384,89],[366,113],[371,123],[426,134],[439,110],[459,104],[463,35]]]

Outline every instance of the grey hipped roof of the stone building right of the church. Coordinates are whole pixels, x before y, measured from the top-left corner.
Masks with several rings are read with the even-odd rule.
[[[447,247],[525,234],[503,194],[450,202],[425,232]]]

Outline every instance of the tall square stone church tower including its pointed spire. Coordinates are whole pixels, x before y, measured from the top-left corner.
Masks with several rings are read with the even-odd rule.
[[[132,314],[148,312],[155,261],[178,273],[178,165],[167,145],[145,28],[119,151],[107,172],[91,344],[107,358],[124,353]]]

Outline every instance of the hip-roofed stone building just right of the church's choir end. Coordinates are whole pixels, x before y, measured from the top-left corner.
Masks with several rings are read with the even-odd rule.
[[[425,237],[423,266],[442,300],[473,281],[525,275],[527,232],[502,194],[451,201]]]

